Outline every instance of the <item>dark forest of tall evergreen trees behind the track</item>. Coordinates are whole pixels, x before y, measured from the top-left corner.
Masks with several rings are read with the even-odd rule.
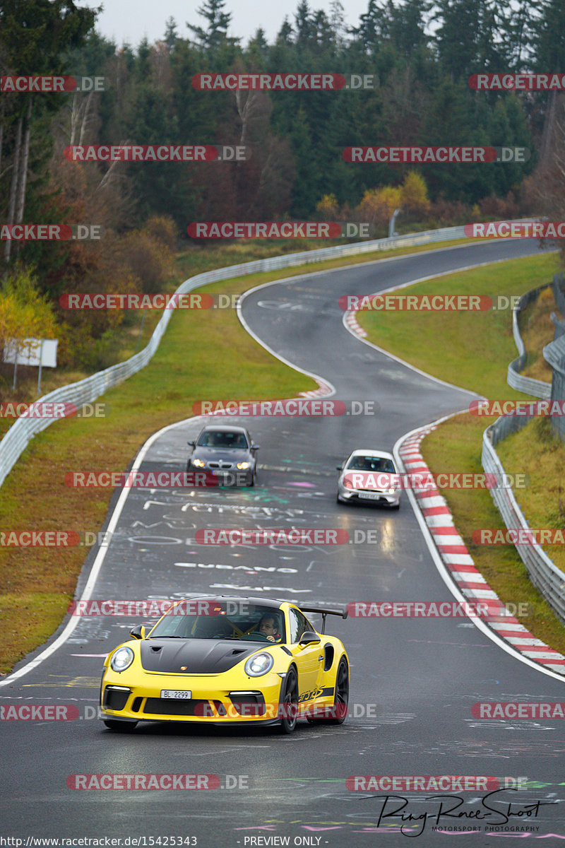
[[[258,29],[246,45],[228,36],[224,0],[203,0],[194,20],[169,19],[162,40],[137,47],[97,34],[96,14],[72,0],[0,0],[2,75],[108,81],[104,92],[0,93],[0,225],[69,220],[107,230],[103,249],[2,243],[4,271],[17,259],[41,268],[39,286],[53,298],[84,281],[102,284],[110,271],[131,282],[122,240],[147,220],[172,219],[186,237],[192,220],[314,218],[322,198],[326,208],[355,209],[367,192],[401,186],[408,170],[424,178],[447,217],[457,204],[496,210],[498,200],[519,210],[524,182],[535,168],[548,173],[555,159],[563,95],[478,92],[468,77],[565,72],[562,0],[368,0],[351,27],[339,0],[328,14],[300,0],[274,42]],[[206,92],[191,85],[193,75],[229,71],[373,75],[375,86]],[[88,143],[245,143],[252,158],[64,159],[64,147]],[[357,144],[488,144],[533,155],[512,165],[347,164],[341,151]]]

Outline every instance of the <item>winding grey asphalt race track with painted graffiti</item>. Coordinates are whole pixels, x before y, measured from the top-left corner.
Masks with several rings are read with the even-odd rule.
[[[98,555],[102,565],[91,597],[174,599],[213,592],[332,605],[452,600],[406,494],[398,512],[337,505],[335,466],[356,447],[391,450],[403,434],[463,410],[474,395],[424,377],[353,338],[342,325],[337,300],[537,249],[527,239],[441,249],[301,276],[250,293],[242,315],[258,338],[330,382],[336,399],[374,401],[378,414],[238,421],[261,446],[255,488],[130,489],[103,561]],[[163,431],[147,449],[141,470],[184,470],[186,440],[201,424],[182,421]],[[343,527],[360,541],[195,544],[201,527]],[[368,530],[375,532],[376,544],[361,541]],[[91,550],[77,598],[96,555]],[[565,840],[564,807],[557,806],[565,786],[563,720],[478,720],[471,713],[474,703],[485,700],[565,701],[565,686],[556,675],[501,650],[467,619],[330,617],[327,630],[343,639],[351,659],[350,714],[337,728],[301,721],[291,736],[173,722],[140,724],[130,735],[106,730],[96,718],[102,656],[137,623],[139,618],[80,618],[50,656],[3,682],[0,705],[71,704],[80,713],[80,720],[70,722],[0,722],[9,764],[0,778],[7,835],[146,837],[138,845],[150,845],[149,838],[159,835],[193,836],[200,848],[396,848],[410,838],[420,846],[451,844],[452,830],[432,830],[440,806],[433,793],[392,793],[407,799],[404,814],[413,815],[401,834],[402,813],[388,814],[402,801],[346,788],[346,778],[374,774],[493,776],[502,786],[510,778],[510,787],[528,778],[535,789],[496,796],[498,809],[506,806],[508,812],[512,805],[506,823],[501,815],[483,823],[485,793],[467,791],[459,793],[458,809],[467,817],[452,813],[440,825],[480,828],[456,843],[480,848],[500,845],[501,837],[548,846]],[[67,778],[77,773],[213,773],[222,788],[209,794],[69,789]]]

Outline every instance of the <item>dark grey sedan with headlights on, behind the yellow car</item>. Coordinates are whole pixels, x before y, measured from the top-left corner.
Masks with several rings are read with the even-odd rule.
[[[188,442],[193,448],[186,471],[207,471],[229,485],[253,486],[258,444],[254,444],[245,427],[230,424],[210,424],[204,427],[196,441]]]

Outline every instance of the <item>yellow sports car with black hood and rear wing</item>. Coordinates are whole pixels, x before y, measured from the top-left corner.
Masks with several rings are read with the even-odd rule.
[[[321,633],[305,612],[321,613]],[[347,612],[226,595],[181,600],[106,657],[102,721],[121,732],[141,721],[251,722],[286,734],[299,717],[341,724],[349,661],[324,633],[327,615]]]

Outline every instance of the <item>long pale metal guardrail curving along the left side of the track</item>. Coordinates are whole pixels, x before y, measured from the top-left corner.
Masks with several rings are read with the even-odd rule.
[[[216,271],[206,271],[203,274],[192,276],[185,280],[177,288],[177,294],[186,294],[198,286],[206,285],[208,282],[228,280],[234,276],[245,276],[257,274],[261,271],[274,271],[279,268],[291,268],[292,265],[304,265],[309,262],[320,262],[323,259],[334,259],[341,256],[353,256],[355,254],[373,253],[375,250],[391,250],[396,247],[412,247],[418,244],[433,242],[446,242],[454,238],[465,238],[463,226],[449,226],[441,230],[426,230],[425,232],[409,233],[406,236],[392,238],[379,238],[371,242],[358,242],[353,244],[335,245],[331,248],[319,248],[318,250],[306,250],[301,253],[287,254],[285,256],[273,256],[270,259],[256,259],[254,262],[245,262],[241,265],[230,265],[227,268],[219,268]],[[66,401],[76,406],[89,404],[100,397],[108,388],[118,385],[127,377],[131,377],[136,371],[141,371],[151,360],[152,355],[158,349],[159,342],[163,338],[173,310],[164,310],[161,320],[153,331],[147,347],[125,362],[112,365],[105,371],[97,371],[91,377],[86,377],[80,382],[70,383],[68,386],[57,388],[42,397],[42,403]],[[47,418],[18,418],[8,432],[0,441],[0,486],[6,479],[19,459],[19,455],[25,450],[36,433],[42,432],[49,427],[55,419]]]

